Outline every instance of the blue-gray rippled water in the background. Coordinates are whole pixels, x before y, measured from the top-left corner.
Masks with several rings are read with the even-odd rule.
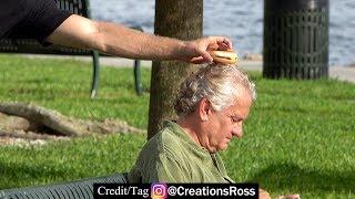
[[[329,64],[355,63],[355,1],[329,0]],[[154,31],[154,0],[90,0],[94,19]],[[240,55],[261,53],[263,0],[204,0],[204,35],[226,35]]]

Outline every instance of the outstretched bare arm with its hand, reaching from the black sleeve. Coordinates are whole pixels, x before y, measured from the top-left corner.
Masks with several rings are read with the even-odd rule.
[[[47,41],[129,59],[182,60],[191,63],[211,62],[207,50],[232,49],[231,41],[224,36],[181,41],[75,14],[57,28]]]

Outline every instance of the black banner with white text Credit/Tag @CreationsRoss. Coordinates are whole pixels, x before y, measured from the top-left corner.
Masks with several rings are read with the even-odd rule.
[[[94,199],[258,198],[257,184],[94,184]]]

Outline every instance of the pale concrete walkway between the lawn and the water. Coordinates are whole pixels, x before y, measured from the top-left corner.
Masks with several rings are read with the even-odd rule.
[[[70,56],[70,55],[33,55],[26,54],[26,57],[31,59],[69,59],[69,60],[78,60],[84,62],[92,62],[92,59],[89,56]],[[120,57],[100,57],[100,64],[105,66],[133,66],[133,60],[120,59]],[[142,61],[142,66],[151,67],[151,61]],[[239,65],[247,71],[262,71],[262,62],[261,61],[240,61]],[[329,66],[329,77],[337,78],[341,81],[347,81],[355,83],[355,67],[354,66]]]

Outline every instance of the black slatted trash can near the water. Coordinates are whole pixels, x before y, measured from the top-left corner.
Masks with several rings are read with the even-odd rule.
[[[263,76],[328,76],[328,0],[264,0]]]

